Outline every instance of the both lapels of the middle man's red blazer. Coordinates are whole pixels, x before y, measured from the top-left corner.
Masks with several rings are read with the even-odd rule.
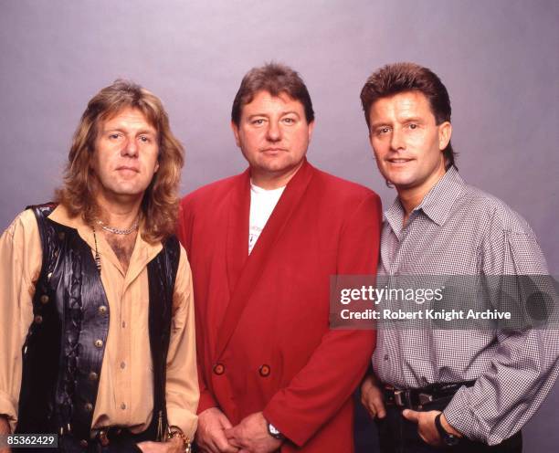
[[[260,237],[258,237],[258,242],[252,249],[252,253],[248,257],[248,216],[250,209],[250,194],[246,195],[247,201],[241,202],[237,205],[237,211],[233,209],[232,203],[229,226],[235,227],[236,232],[231,235],[231,240],[237,239],[237,245],[227,242],[227,253],[235,252],[236,254],[241,253],[239,244],[242,244],[244,256],[246,258],[245,265],[240,272],[240,275],[234,284],[231,284],[232,273],[229,274],[229,288],[233,288],[231,299],[227,305],[227,311],[223,322],[217,332],[217,342],[216,342],[216,358],[218,359],[224,352],[227,342],[231,338],[233,332],[237,327],[238,320],[242,312],[244,311],[248,300],[250,299],[250,294],[254,289],[256,282],[258,281],[262,270],[265,268],[266,263],[270,258],[270,251],[280,237],[281,231],[289,223],[290,216],[301,202],[307,186],[311,182],[312,174],[314,174],[314,168],[310,163],[305,162],[302,164],[301,169],[293,176],[289,184],[286,186],[285,191],[280,197],[278,205],[276,205],[269,220],[266,223],[266,227],[262,230]],[[249,186],[249,184],[248,184]],[[248,189],[249,190],[249,189]],[[248,205],[248,208],[246,208]],[[242,210],[239,208],[242,207]],[[246,212],[245,212],[246,209]],[[242,216],[242,219],[238,217]],[[243,228],[244,237],[238,236],[237,228]],[[236,270],[236,266],[240,262],[240,259],[235,257],[231,258],[231,269]]]

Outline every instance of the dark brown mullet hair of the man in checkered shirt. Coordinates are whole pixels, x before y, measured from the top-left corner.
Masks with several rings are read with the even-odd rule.
[[[416,63],[393,63],[374,71],[361,90],[361,103],[369,130],[371,129],[369,114],[374,102],[405,91],[419,91],[425,95],[437,124],[450,121],[450,98],[447,88],[437,74]],[[443,154],[447,169],[452,165],[456,166],[456,153],[450,142]]]

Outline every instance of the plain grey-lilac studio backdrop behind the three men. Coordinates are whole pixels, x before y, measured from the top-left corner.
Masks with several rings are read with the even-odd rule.
[[[388,205],[359,92],[374,68],[411,60],[448,87],[460,173],[530,222],[556,275],[558,19],[554,0],[0,0],[0,227],[50,199],[86,102],[117,78],[163,99],[185,144],[183,193],[242,171],[231,102],[272,59],[311,91],[311,163]],[[559,446],[558,406],[556,385],[525,451]]]

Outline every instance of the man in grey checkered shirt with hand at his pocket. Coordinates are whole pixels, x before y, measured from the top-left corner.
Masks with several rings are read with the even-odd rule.
[[[385,213],[379,276],[548,274],[526,221],[460,177],[437,75],[387,65],[361,100],[376,163],[398,193]],[[383,452],[522,451],[520,429],[553,386],[558,356],[546,329],[379,329],[362,401]]]

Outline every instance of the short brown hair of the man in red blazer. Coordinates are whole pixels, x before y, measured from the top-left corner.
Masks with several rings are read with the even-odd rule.
[[[297,71],[279,63],[267,63],[262,67],[250,69],[241,81],[231,109],[231,121],[237,126],[243,106],[250,103],[259,91],[268,91],[272,96],[285,93],[291,99],[299,100],[305,110],[307,122],[314,121],[309,90]]]

